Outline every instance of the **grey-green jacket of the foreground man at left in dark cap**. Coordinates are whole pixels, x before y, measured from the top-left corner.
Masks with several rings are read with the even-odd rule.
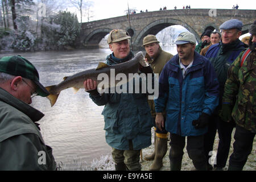
[[[43,113],[0,88],[0,170],[55,170],[39,131]]]

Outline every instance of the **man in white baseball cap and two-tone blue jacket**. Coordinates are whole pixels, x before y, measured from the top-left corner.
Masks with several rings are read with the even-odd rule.
[[[185,137],[195,168],[206,170],[204,134],[208,118],[218,105],[218,81],[210,61],[195,51],[195,35],[183,32],[175,44],[177,55],[168,61],[159,77],[155,122],[160,130],[170,132],[171,171],[181,169]]]

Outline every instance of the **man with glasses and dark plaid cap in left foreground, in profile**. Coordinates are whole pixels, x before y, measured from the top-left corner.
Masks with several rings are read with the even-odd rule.
[[[0,59],[0,170],[55,170],[52,148],[44,143],[31,107],[35,95],[48,96],[34,65],[22,56]]]

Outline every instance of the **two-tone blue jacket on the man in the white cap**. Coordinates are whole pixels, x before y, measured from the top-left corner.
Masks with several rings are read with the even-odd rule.
[[[195,129],[192,121],[201,113],[212,114],[218,105],[218,81],[210,61],[194,52],[192,67],[183,78],[179,56],[175,55],[164,66],[159,77],[159,97],[155,110],[166,109],[166,130],[181,136],[197,136],[207,132]]]

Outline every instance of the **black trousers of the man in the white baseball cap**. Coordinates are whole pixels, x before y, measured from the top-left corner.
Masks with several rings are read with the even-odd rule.
[[[176,170],[180,170],[181,160],[183,157],[183,148],[185,147],[185,137],[170,134],[170,163],[175,166]],[[207,169],[207,160],[204,155],[204,135],[187,137],[188,156],[197,170]],[[176,167],[179,166],[179,167]]]

